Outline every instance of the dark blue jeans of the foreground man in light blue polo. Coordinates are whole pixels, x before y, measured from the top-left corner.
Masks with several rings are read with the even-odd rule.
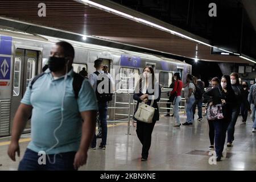
[[[27,148],[19,163],[18,171],[76,171],[73,166],[75,155],[75,151],[57,154],[54,164],[51,164],[54,162],[54,154],[46,155],[46,164],[39,164],[38,159],[42,159],[42,155]]]

